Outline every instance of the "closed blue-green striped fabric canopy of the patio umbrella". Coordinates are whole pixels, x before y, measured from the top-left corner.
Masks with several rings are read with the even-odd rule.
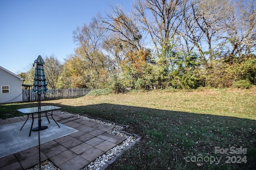
[[[35,69],[35,78],[32,92],[36,94],[45,94],[49,91],[46,76],[44,74],[44,60],[39,55],[36,59],[37,65]]]

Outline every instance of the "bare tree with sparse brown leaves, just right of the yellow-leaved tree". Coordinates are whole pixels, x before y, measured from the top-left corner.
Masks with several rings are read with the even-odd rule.
[[[120,64],[128,59],[131,51],[143,49],[142,32],[132,15],[126,14],[118,5],[105,16],[98,14],[93,22],[104,30],[103,48],[108,54],[108,66],[113,74],[121,74]]]

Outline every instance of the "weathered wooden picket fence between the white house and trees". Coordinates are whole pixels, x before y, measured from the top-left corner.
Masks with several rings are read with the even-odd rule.
[[[88,92],[89,88],[49,89],[46,94],[41,95],[41,100],[79,98]],[[22,98],[23,102],[34,102],[37,101],[37,94],[32,93],[32,89],[22,89]]]

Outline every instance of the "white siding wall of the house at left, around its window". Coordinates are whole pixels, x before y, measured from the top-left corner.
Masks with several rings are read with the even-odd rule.
[[[2,93],[2,86],[9,86],[10,93]],[[0,69],[0,103],[22,102],[20,78]]]

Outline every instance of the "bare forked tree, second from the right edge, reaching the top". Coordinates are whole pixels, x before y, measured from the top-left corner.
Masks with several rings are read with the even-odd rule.
[[[182,35],[193,43],[202,56],[206,68],[211,65],[215,49],[221,42],[222,25],[228,17],[227,0],[192,0],[184,8]]]

